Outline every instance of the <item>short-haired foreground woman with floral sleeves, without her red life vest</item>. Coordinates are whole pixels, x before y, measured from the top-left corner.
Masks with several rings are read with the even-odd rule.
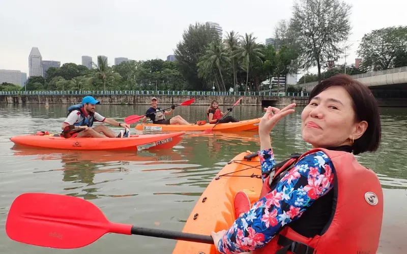
[[[260,164],[263,181],[276,165],[270,132],[295,104],[282,110],[268,107],[259,123]],[[318,84],[301,114],[302,138],[313,148],[353,152],[375,151],[380,143],[381,124],[376,101],[369,88],[347,75],[336,75]],[[306,237],[321,233],[332,213],[333,163],[323,151],[303,156],[266,196],[250,206],[244,192],[235,196],[239,217],[228,230],[212,232],[220,253],[256,250],[270,242],[289,225]],[[324,198],[325,197],[325,198]],[[306,224],[296,224],[315,200],[326,200],[321,209],[307,214]],[[304,221],[304,220],[303,220]]]

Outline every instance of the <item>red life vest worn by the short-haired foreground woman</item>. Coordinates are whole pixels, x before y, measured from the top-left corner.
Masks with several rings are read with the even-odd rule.
[[[334,165],[333,192],[337,200],[333,207],[335,213],[323,233],[307,238],[288,224],[264,247],[254,250],[254,254],[376,253],[382,228],[383,190],[376,174],[360,165],[352,153],[316,148],[301,156],[291,156],[276,169],[271,182],[270,175],[264,181],[260,198],[270,192],[270,185],[279,179],[278,175],[316,151],[325,152]]]

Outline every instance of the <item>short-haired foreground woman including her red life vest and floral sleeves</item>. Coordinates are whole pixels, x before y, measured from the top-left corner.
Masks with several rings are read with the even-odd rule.
[[[244,192],[235,195],[239,217],[229,229],[211,233],[216,248],[220,253],[376,253],[382,187],[353,155],[379,147],[381,122],[371,91],[343,74],[316,85],[301,113],[302,138],[312,149],[276,164],[270,132],[294,107],[265,108],[258,129],[260,199],[251,206]]]

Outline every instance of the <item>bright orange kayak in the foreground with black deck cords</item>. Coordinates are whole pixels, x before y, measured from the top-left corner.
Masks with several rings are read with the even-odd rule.
[[[245,160],[244,157],[249,154],[251,152],[246,151],[235,156],[209,183],[192,209],[182,232],[209,236],[212,231],[228,229],[236,219],[233,203],[235,194],[239,190],[243,190],[249,196],[251,204],[258,200],[262,185],[261,178],[238,177],[261,174],[258,156],[251,158],[251,161]],[[219,252],[213,244],[179,240],[172,254],[183,253],[215,254]]]

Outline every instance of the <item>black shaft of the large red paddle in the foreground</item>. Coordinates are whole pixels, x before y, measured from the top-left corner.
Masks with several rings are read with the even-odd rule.
[[[178,231],[170,231],[170,230],[149,229],[149,228],[140,228],[140,227],[132,226],[131,234],[213,244],[213,239],[211,236],[184,233],[184,232],[178,232]]]

